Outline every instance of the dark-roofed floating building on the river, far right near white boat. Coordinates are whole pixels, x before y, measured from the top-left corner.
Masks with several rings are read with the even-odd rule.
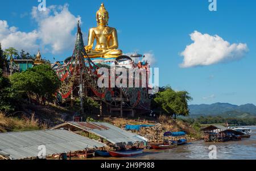
[[[221,125],[210,125],[202,128],[204,131],[204,140],[207,142],[224,142],[230,140],[241,140],[242,132],[232,130]]]

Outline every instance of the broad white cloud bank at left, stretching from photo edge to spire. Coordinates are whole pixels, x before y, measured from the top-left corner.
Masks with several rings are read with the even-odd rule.
[[[32,19],[37,28],[31,32],[21,32],[16,27],[9,27],[7,21],[0,20],[0,42],[3,48],[15,47],[18,50],[35,52],[38,48],[48,49],[56,54],[72,49],[79,16],[74,16],[68,10],[68,5],[49,6],[46,11],[32,7]]]

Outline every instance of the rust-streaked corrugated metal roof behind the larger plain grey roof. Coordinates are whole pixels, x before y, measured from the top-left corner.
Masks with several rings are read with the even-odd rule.
[[[80,128],[81,130],[85,130],[94,135],[100,136],[110,143],[136,143],[136,142],[144,142],[143,138],[140,138],[137,134],[134,134],[129,131],[122,130],[112,124],[105,122],[65,122],[60,124],[59,126],[55,126],[51,129],[60,128],[61,126],[65,126],[67,124],[71,124]]]

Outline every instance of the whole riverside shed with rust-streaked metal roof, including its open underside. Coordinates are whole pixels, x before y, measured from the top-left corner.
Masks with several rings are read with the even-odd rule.
[[[146,144],[146,139],[144,137],[105,122],[65,122],[50,128],[50,130],[60,128],[73,131],[77,134],[85,133],[88,137],[89,134],[94,136],[96,135],[100,137],[102,143],[106,142],[109,145],[112,144],[120,146],[133,145],[135,143]]]

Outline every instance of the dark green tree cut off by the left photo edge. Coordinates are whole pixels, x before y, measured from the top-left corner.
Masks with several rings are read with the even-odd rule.
[[[14,111],[16,99],[18,99],[16,91],[11,87],[9,78],[3,77],[0,69],[0,111]]]

